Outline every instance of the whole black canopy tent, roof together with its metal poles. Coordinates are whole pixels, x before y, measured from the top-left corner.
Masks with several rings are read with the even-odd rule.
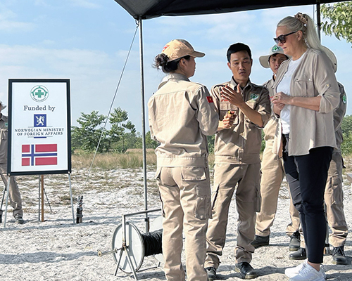
[[[115,0],[139,25],[139,52],[141,64],[141,96],[142,96],[142,145],[144,166],[144,208],[148,210],[146,186],[146,130],[144,109],[144,61],[142,20],[158,18],[162,15],[206,15],[212,13],[230,13],[236,11],[258,10],[263,8],[279,8],[284,6],[317,5],[318,29],[320,30],[320,4],[337,1],[329,0]],[[346,0],[344,0],[346,1]],[[320,32],[319,32],[320,33]],[[147,214],[146,214],[147,217]],[[146,231],[149,223],[146,219]]]

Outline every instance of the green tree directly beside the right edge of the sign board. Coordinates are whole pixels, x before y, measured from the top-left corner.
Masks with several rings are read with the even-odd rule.
[[[72,126],[72,149],[81,149],[86,152],[96,150],[99,143],[101,132],[103,136],[99,145],[99,152],[108,150],[108,141],[106,141],[106,131],[103,129],[103,122],[106,120],[105,115],[99,115],[99,111],[92,111],[89,114],[81,112],[81,117],[77,119],[80,126]]]

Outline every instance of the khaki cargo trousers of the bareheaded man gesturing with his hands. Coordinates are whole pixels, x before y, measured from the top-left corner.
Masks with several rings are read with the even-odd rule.
[[[212,190],[213,218],[209,220],[206,267],[218,268],[225,247],[227,221],[232,195],[236,190],[237,223],[236,262],[251,262],[254,247],[256,211],[260,209],[260,163],[215,164]]]

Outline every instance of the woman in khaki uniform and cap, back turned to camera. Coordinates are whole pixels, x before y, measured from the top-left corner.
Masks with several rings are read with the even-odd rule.
[[[156,148],[156,178],[163,207],[163,257],[168,281],[184,281],[182,230],[188,281],[207,281],[206,229],[210,208],[210,178],[206,135],[218,129],[218,114],[206,86],[189,81],[194,75],[194,51],[185,40],[165,45],[156,56],[168,77],[149,99],[151,136]]]

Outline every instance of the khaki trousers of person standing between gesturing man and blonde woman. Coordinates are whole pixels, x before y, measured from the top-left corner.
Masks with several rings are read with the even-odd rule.
[[[262,160],[262,176],[260,181],[260,195],[262,204],[260,212],[256,217],[256,235],[270,235],[270,228],[275,220],[277,211],[277,198],[279,197],[279,189],[282,180],[284,179],[284,162],[282,159],[277,159],[277,155],[272,153],[273,140],[265,142],[265,149]],[[291,236],[298,232],[299,229],[299,214],[290,196],[289,214],[291,223],[286,228],[287,235]]]

